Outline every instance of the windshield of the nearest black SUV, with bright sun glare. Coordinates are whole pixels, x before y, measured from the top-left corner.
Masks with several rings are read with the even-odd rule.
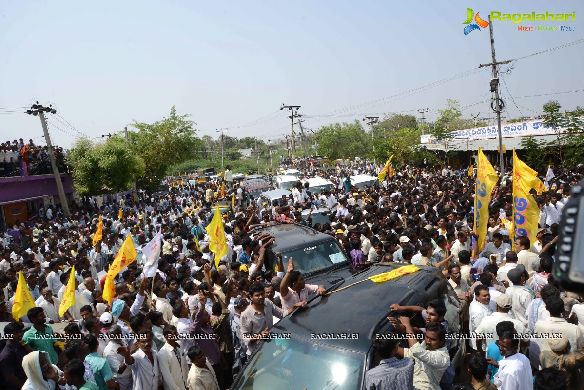
[[[360,389],[365,357],[294,335],[265,340],[230,389]]]

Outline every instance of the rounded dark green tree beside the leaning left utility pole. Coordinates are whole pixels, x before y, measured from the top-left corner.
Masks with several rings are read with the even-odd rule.
[[[78,138],[67,156],[67,164],[75,191],[81,196],[125,191],[131,187],[133,176],[143,176],[145,170],[144,160],[130,151],[119,135],[96,144]]]

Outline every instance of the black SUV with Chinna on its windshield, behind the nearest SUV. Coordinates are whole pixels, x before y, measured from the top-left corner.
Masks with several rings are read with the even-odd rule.
[[[308,284],[329,287],[353,276],[350,260],[335,237],[299,224],[278,224],[260,231],[276,238],[266,251],[266,269],[276,267],[276,253],[281,252],[284,271],[290,257],[294,257],[294,269],[303,274]]]

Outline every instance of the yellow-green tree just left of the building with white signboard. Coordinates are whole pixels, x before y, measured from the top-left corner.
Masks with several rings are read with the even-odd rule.
[[[420,146],[420,134],[422,130],[416,128],[401,128],[388,138],[378,139],[373,142],[375,145],[375,158],[378,163],[384,164],[391,155],[391,160],[395,165],[400,163],[420,164],[427,159],[435,161],[436,155],[426,151]]]

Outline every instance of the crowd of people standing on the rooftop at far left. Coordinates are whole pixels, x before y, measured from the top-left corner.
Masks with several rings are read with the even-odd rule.
[[[60,172],[68,172],[65,159],[67,151],[53,146],[55,162]],[[33,140],[25,143],[6,141],[0,145],[0,177],[46,175],[53,173],[48,156],[48,147],[35,145]]]

